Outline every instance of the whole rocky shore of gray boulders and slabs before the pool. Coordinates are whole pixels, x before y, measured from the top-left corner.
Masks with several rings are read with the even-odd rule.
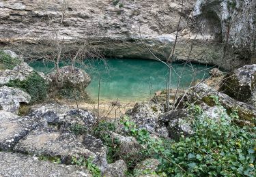
[[[18,58],[13,52],[4,53],[12,60]],[[134,176],[156,174],[160,161],[141,157],[141,150],[147,150],[148,145],[145,147],[141,139],[133,136],[137,135],[134,132],[148,132],[145,137],[153,142],[193,137],[196,113],[202,120],[234,118],[232,121],[241,127],[254,127],[256,123],[256,65],[246,65],[227,76],[212,70],[212,78],[221,77],[219,90],[205,84],[207,81],[195,84],[188,91],[179,92],[169,111],[166,100],[158,94],[157,101],[137,103],[123,116],[106,118],[79,106],[70,108],[52,101],[48,93],[45,101],[31,102],[36,94],[31,95],[34,93],[29,93],[23,84],[10,83],[27,80],[35,72],[38,75],[33,76],[40,76],[52,86],[54,77],[44,76],[18,60],[12,69],[0,71],[0,176],[126,176],[129,170]],[[5,64],[1,63],[3,67]],[[63,67],[59,78],[62,83],[70,80],[76,88],[77,84],[84,87],[90,82],[84,71],[66,68]],[[22,110],[24,105],[29,106],[27,111]],[[131,129],[132,134],[127,128],[133,123],[137,128]],[[141,138],[145,138],[143,135]]]

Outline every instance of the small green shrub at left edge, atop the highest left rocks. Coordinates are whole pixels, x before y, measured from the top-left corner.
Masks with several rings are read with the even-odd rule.
[[[0,70],[1,69],[14,69],[17,65],[21,63],[20,59],[12,59],[9,54],[0,51]]]

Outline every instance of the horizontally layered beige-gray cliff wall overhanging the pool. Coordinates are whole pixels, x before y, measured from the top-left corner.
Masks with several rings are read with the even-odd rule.
[[[223,46],[219,42],[226,42],[222,35],[227,33],[227,25],[222,28],[224,25],[220,22],[221,20],[218,18],[208,19],[208,16],[203,15],[213,11],[215,16],[216,10],[221,9],[218,8],[218,5],[223,1],[211,3],[217,4],[215,11],[211,11],[208,4],[212,1],[198,0],[194,14],[203,16],[203,20],[193,19],[193,14],[190,13],[193,11],[196,0],[184,1],[182,12],[182,3],[178,0],[88,0],[85,3],[74,0],[69,3],[63,2],[59,3],[55,0],[47,1],[47,3],[29,0],[21,3],[15,0],[1,1],[0,42],[35,43],[36,39],[45,39],[50,42],[53,39],[63,39],[65,42],[83,42],[85,39],[89,39],[89,44],[99,48],[106,56],[155,59],[145,48],[146,41],[147,47],[156,51],[156,57],[167,59],[171,52],[171,46],[175,43],[173,32],[179,31],[180,37],[175,52],[177,60],[211,63],[222,67],[230,66],[231,63],[244,64],[244,61],[238,59],[233,62],[231,60],[223,61]],[[251,17],[253,17],[253,7],[255,7],[253,3],[251,0],[250,3],[237,4],[244,12],[249,7]],[[221,9],[218,16],[221,18],[222,15],[226,15],[225,13]],[[235,36],[236,31],[240,31],[243,25],[246,26],[242,29],[246,30],[247,24],[251,28],[250,34],[254,35],[251,33],[253,20],[250,20],[253,18],[245,19],[238,10],[234,11],[234,14],[241,19],[240,22],[244,22],[236,26],[236,20],[233,20],[229,36]],[[177,27],[180,16],[180,27]],[[51,22],[48,18],[51,18]],[[208,22],[207,25],[204,25],[205,33],[203,35],[194,30],[197,21]],[[224,20],[222,21],[224,22]],[[209,23],[210,25],[208,25]],[[199,27],[201,26],[199,25]],[[211,27],[213,30],[210,29]],[[53,31],[57,31],[58,35]],[[193,39],[195,39],[194,43],[191,42]],[[242,39],[244,40],[241,45],[246,46],[246,37]],[[234,44],[231,40],[228,41],[228,44],[229,42]],[[190,44],[193,44],[191,53],[188,50]],[[31,47],[29,47],[30,49]],[[40,47],[37,48],[37,50],[39,49]],[[19,48],[19,50],[22,49]],[[53,48],[46,50],[53,50]]]

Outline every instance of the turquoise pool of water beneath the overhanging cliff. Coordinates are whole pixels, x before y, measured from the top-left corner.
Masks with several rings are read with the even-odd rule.
[[[53,64],[35,61],[30,63],[37,71],[48,73]],[[190,82],[208,78],[211,66],[201,64],[173,63],[171,87],[176,88],[179,76],[180,88],[186,88]],[[91,76],[91,83],[86,88],[89,95],[98,97],[100,76],[100,97],[102,99],[139,100],[152,97],[155,91],[166,88],[168,67],[158,61],[141,59],[106,59],[89,60],[83,66]]]

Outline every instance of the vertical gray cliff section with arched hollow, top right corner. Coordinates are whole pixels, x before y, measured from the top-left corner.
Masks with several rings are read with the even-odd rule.
[[[193,16],[225,43],[225,63],[232,69],[255,62],[256,1],[197,0]],[[235,62],[234,62],[235,61]],[[220,65],[221,66],[221,65]]]

